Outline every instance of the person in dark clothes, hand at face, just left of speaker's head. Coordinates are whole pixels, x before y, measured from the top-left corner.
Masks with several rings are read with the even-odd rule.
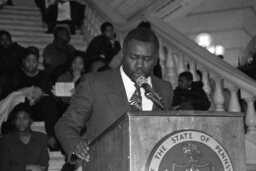
[[[100,30],[102,34],[95,37],[88,45],[85,61],[92,62],[102,58],[108,65],[112,58],[118,54],[121,46],[116,40],[114,26],[111,23],[103,23]]]

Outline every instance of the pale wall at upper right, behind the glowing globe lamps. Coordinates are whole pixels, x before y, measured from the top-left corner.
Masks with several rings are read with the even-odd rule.
[[[225,60],[236,66],[256,35],[255,4],[252,0],[207,0],[187,15],[165,21],[193,40],[199,33],[210,33],[213,44],[225,47]]]

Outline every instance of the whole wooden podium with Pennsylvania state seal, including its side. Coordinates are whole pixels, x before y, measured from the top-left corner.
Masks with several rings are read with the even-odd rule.
[[[84,171],[246,170],[239,113],[127,113],[90,145]]]

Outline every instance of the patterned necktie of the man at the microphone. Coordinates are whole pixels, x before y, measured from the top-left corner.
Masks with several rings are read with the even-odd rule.
[[[129,104],[132,108],[132,111],[142,111],[142,98],[140,87],[135,84],[136,90],[133,93],[132,97],[129,100]]]

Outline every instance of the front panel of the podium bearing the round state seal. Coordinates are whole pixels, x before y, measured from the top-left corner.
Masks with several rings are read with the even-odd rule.
[[[129,116],[130,171],[245,171],[240,116]]]

